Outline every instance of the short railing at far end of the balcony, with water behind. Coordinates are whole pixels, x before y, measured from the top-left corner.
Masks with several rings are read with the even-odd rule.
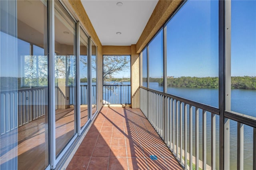
[[[103,85],[103,104],[131,104],[131,85]]]

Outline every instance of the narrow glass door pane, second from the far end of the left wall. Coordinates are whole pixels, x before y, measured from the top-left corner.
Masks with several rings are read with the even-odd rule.
[[[80,119],[81,128],[88,121],[88,37],[80,28]]]

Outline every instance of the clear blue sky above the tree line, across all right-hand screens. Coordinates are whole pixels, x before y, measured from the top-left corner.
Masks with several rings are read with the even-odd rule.
[[[256,1],[232,1],[231,33],[232,76],[256,76]],[[149,75],[161,77],[162,39],[155,39]],[[218,77],[218,1],[188,1],[167,24],[167,75]]]

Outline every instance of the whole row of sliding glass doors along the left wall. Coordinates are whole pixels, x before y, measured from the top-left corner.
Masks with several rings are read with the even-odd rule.
[[[66,3],[0,1],[1,170],[56,168],[97,112],[97,47]]]

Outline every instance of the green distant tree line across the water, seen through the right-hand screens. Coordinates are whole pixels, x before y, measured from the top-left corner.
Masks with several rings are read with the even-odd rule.
[[[162,78],[149,77],[150,82],[158,82],[163,85]],[[191,88],[218,88],[218,77],[177,77],[167,78],[169,87],[191,87]],[[256,89],[256,77],[231,77],[232,89]]]

